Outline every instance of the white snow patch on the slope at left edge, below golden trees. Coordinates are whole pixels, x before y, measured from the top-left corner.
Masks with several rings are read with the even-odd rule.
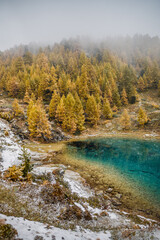
[[[8,136],[5,135],[8,132]],[[10,130],[9,125],[0,119],[0,170],[4,171],[10,166],[18,165],[21,161],[18,159],[21,153],[21,147],[16,142],[16,137]]]

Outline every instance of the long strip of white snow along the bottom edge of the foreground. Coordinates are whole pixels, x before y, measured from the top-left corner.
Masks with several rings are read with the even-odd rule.
[[[92,232],[90,230],[80,229],[77,227],[76,231],[64,230],[56,227],[47,227],[47,225],[39,222],[29,221],[24,218],[8,217],[0,214],[1,219],[6,219],[6,223],[11,224],[18,232],[18,237],[23,240],[34,240],[35,236],[42,236],[45,240],[109,240],[111,234],[109,231]],[[62,238],[63,237],[63,238]]]

